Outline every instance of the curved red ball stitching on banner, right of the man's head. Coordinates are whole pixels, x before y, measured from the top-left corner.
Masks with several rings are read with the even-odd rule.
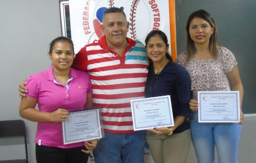
[[[131,32],[130,32],[130,34],[132,35],[131,36],[131,38],[133,38],[133,39],[137,39],[137,37],[136,37],[136,27],[135,27],[135,25],[136,25],[136,23],[135,23],[135,14],[136,14],[136,10],[137,10],[137,5],[138,5],[138,3],[140,2],[140,0],[133,0],[133,2],[132,2],[132,5],[131,5],[131,13],[130,13],[130,30],[131,30]]]

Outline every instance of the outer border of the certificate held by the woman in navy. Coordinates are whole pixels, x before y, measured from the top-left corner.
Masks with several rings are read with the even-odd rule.
[[[167,98],[167,101],[168,101],[169,113],[171,115],[171,123],[170,124],[166,124],[166,125],[160,125],[160,126],[137,127],[136,126],[136,118],[135,118],[135,114],[134,114],[134,107],[133,107],[134,103],[135,102],[142,102],[142,101],[149,101],[151,99],[163,99],[163,98]],[[172,102],[171,102],[170,95],[131,100],[131,113],[132,113],[132,120],[133,120],[134,131],[143,130],[143,129],[153,129],[154,127],[174,126],[174,118],[173,118],[173,113],[172,113]]]

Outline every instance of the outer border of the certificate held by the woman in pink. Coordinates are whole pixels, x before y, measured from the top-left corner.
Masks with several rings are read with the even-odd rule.
[[[100,117],[99,117],[99,114],[100,114],[99,109],[100,109],[100,107],[95,107],[95,108],[89,108],[89,109],[85,109],[85,110],[83,109],[83,110],[70,111],[70,114],[76,114],[76,113],[79,113],[79,112],[92,112],[92,111],[95,110],[95,112],[97,113],[97,115],[96,115],[97,122],[98,122],[98,124],[97,124],[98,129],[97,130],[99,132],[99,134],[98,134],[99,136],[93,137],[93,138],[80,138],[80,139],[76,139],[76,140],[73,140],[73,141],[67,141],[67,137],[66,137],[67,134],[65,134],[66,133],[65,132],[65,122],[66,121],[63,121],[62,122],[63,144],[66,145],[66,144],[71,144],[71,143],[78,143],[78,142],[82,142],[82,141],[90,141],[90,140],[102,138],[102,129],[101,129],[102,126],[100,126],[101,123],[100,123]]]

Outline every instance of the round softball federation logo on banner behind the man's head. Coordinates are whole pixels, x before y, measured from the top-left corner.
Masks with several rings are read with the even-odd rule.
[[[132,39],[144,42],[149,31],[160,29],[161,25],[164,25],[161,23],[161,14],[164,13],[161,13],[157,0],[87,0],[84,4],[86,6],[83,13],[88,17],[88,21],[83,21],[84,34],[89,37],[87,42],[102,37],[102,17],[104,12],[112,7],[121,8],[125,12],[129,22],[127,37]]]

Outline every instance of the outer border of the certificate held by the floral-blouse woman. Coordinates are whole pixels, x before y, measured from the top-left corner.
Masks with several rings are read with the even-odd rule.
[[[210,95],[210,94],[232,94],[233,96],[236,96],[236,119],[230,119],[230,120],[202,120],[201,119],[201,96],[202,95]],[[198,122],[199,123],[237,123],[240,122],[240,96],[239,91],[198,91]]]

